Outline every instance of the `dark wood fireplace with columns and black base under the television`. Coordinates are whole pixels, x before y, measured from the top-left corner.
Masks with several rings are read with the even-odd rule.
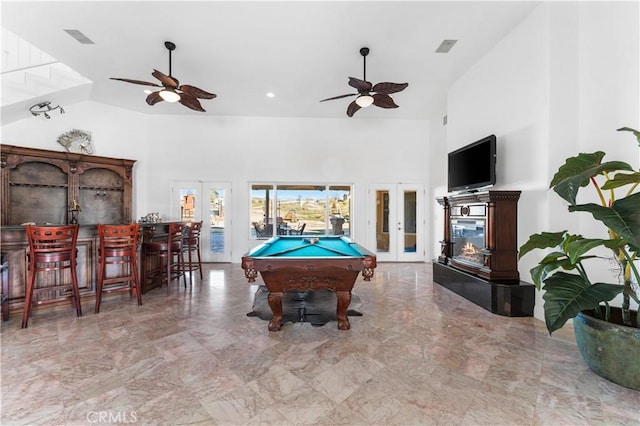
[[[444,208],[441,253],[433,279],[485,309],[533,316],[535,287],[518,272],[520,191],[484,191],[437,198]]]

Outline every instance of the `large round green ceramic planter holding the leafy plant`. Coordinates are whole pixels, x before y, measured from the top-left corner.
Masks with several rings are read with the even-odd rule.
[[[620,317],[620,308],[611,309],[614,320]],[[640,329],[594,318],[588,311],[578,314],[573,329],[580,354],[594,373],[640,390]]]

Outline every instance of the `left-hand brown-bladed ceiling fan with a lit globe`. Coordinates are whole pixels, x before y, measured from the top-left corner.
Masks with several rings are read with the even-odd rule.
[[[180,102],[187,108],[191,108],[196,111],[203,111],[202,105],[200,105],[200,99],[213,99],[215,94],[206,92],[198,87],[189,86],[187,84],[180,85],[177,78],[171,75],[171,52],[175,50],[176,45],[170,41],[165,41],[164,46],[169,50],[169,75],[163,74],[160,71],[154,69],[151,73],[152,76],[160,80],[160,83],[151,83],[149,81],[130,80],[128,78],[114,78],[111,80],[125,81],[127,83],[142,84],[143,86],[162,87],[162,90],[152,92],[147,96],[147,103],[149,105],[155,105],[161,101],[167,102]]]

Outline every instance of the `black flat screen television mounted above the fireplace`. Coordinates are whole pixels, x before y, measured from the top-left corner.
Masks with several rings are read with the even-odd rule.
[[[495,135],[450,152],[448,174],[449,192],[473,191],[495,185]]]

